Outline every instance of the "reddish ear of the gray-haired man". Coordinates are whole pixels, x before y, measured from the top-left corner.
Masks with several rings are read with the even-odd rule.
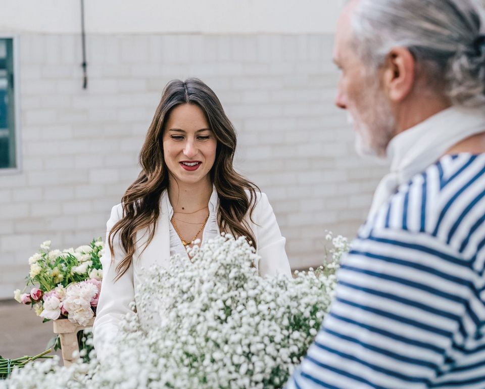
[[[406,47],[394,47],[384,65],[383,86],[392,102],[399,103],[406,99],[415,82],[413,55]]]

